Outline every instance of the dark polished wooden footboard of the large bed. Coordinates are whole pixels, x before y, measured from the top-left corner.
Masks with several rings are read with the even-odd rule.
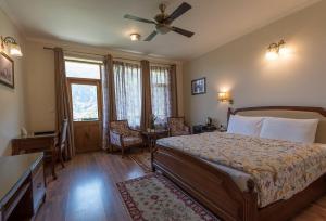
[[[243,193],[224,171],[180,151],[156,146],[153,168],[188,192],[195,199],[224,220],[258,219],[253,182]]]

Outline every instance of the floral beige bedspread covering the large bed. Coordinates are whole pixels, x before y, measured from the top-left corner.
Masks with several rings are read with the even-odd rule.
[[[259,207],[296,193],[326,173],[326,147],[230,133],[202,133],[161,139],[158,144],[249,173]]]

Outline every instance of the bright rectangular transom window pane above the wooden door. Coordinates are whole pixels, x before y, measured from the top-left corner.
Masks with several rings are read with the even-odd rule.
[[[66,77],[100,79],[100,64],[65,61]]]

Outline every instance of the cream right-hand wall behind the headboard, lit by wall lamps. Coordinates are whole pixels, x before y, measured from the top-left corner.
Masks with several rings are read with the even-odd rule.
[[[234,107],[306,105],[326,107],[326,1],[225,44],[184,66],[185,114],[191,123],[211,116],[226,122],[228,104],[217,92],[228,90]],[[288,57],[266,61],[271,42],[285,39]],[[191,95],[192,79],[206,77],[208,93]]]

